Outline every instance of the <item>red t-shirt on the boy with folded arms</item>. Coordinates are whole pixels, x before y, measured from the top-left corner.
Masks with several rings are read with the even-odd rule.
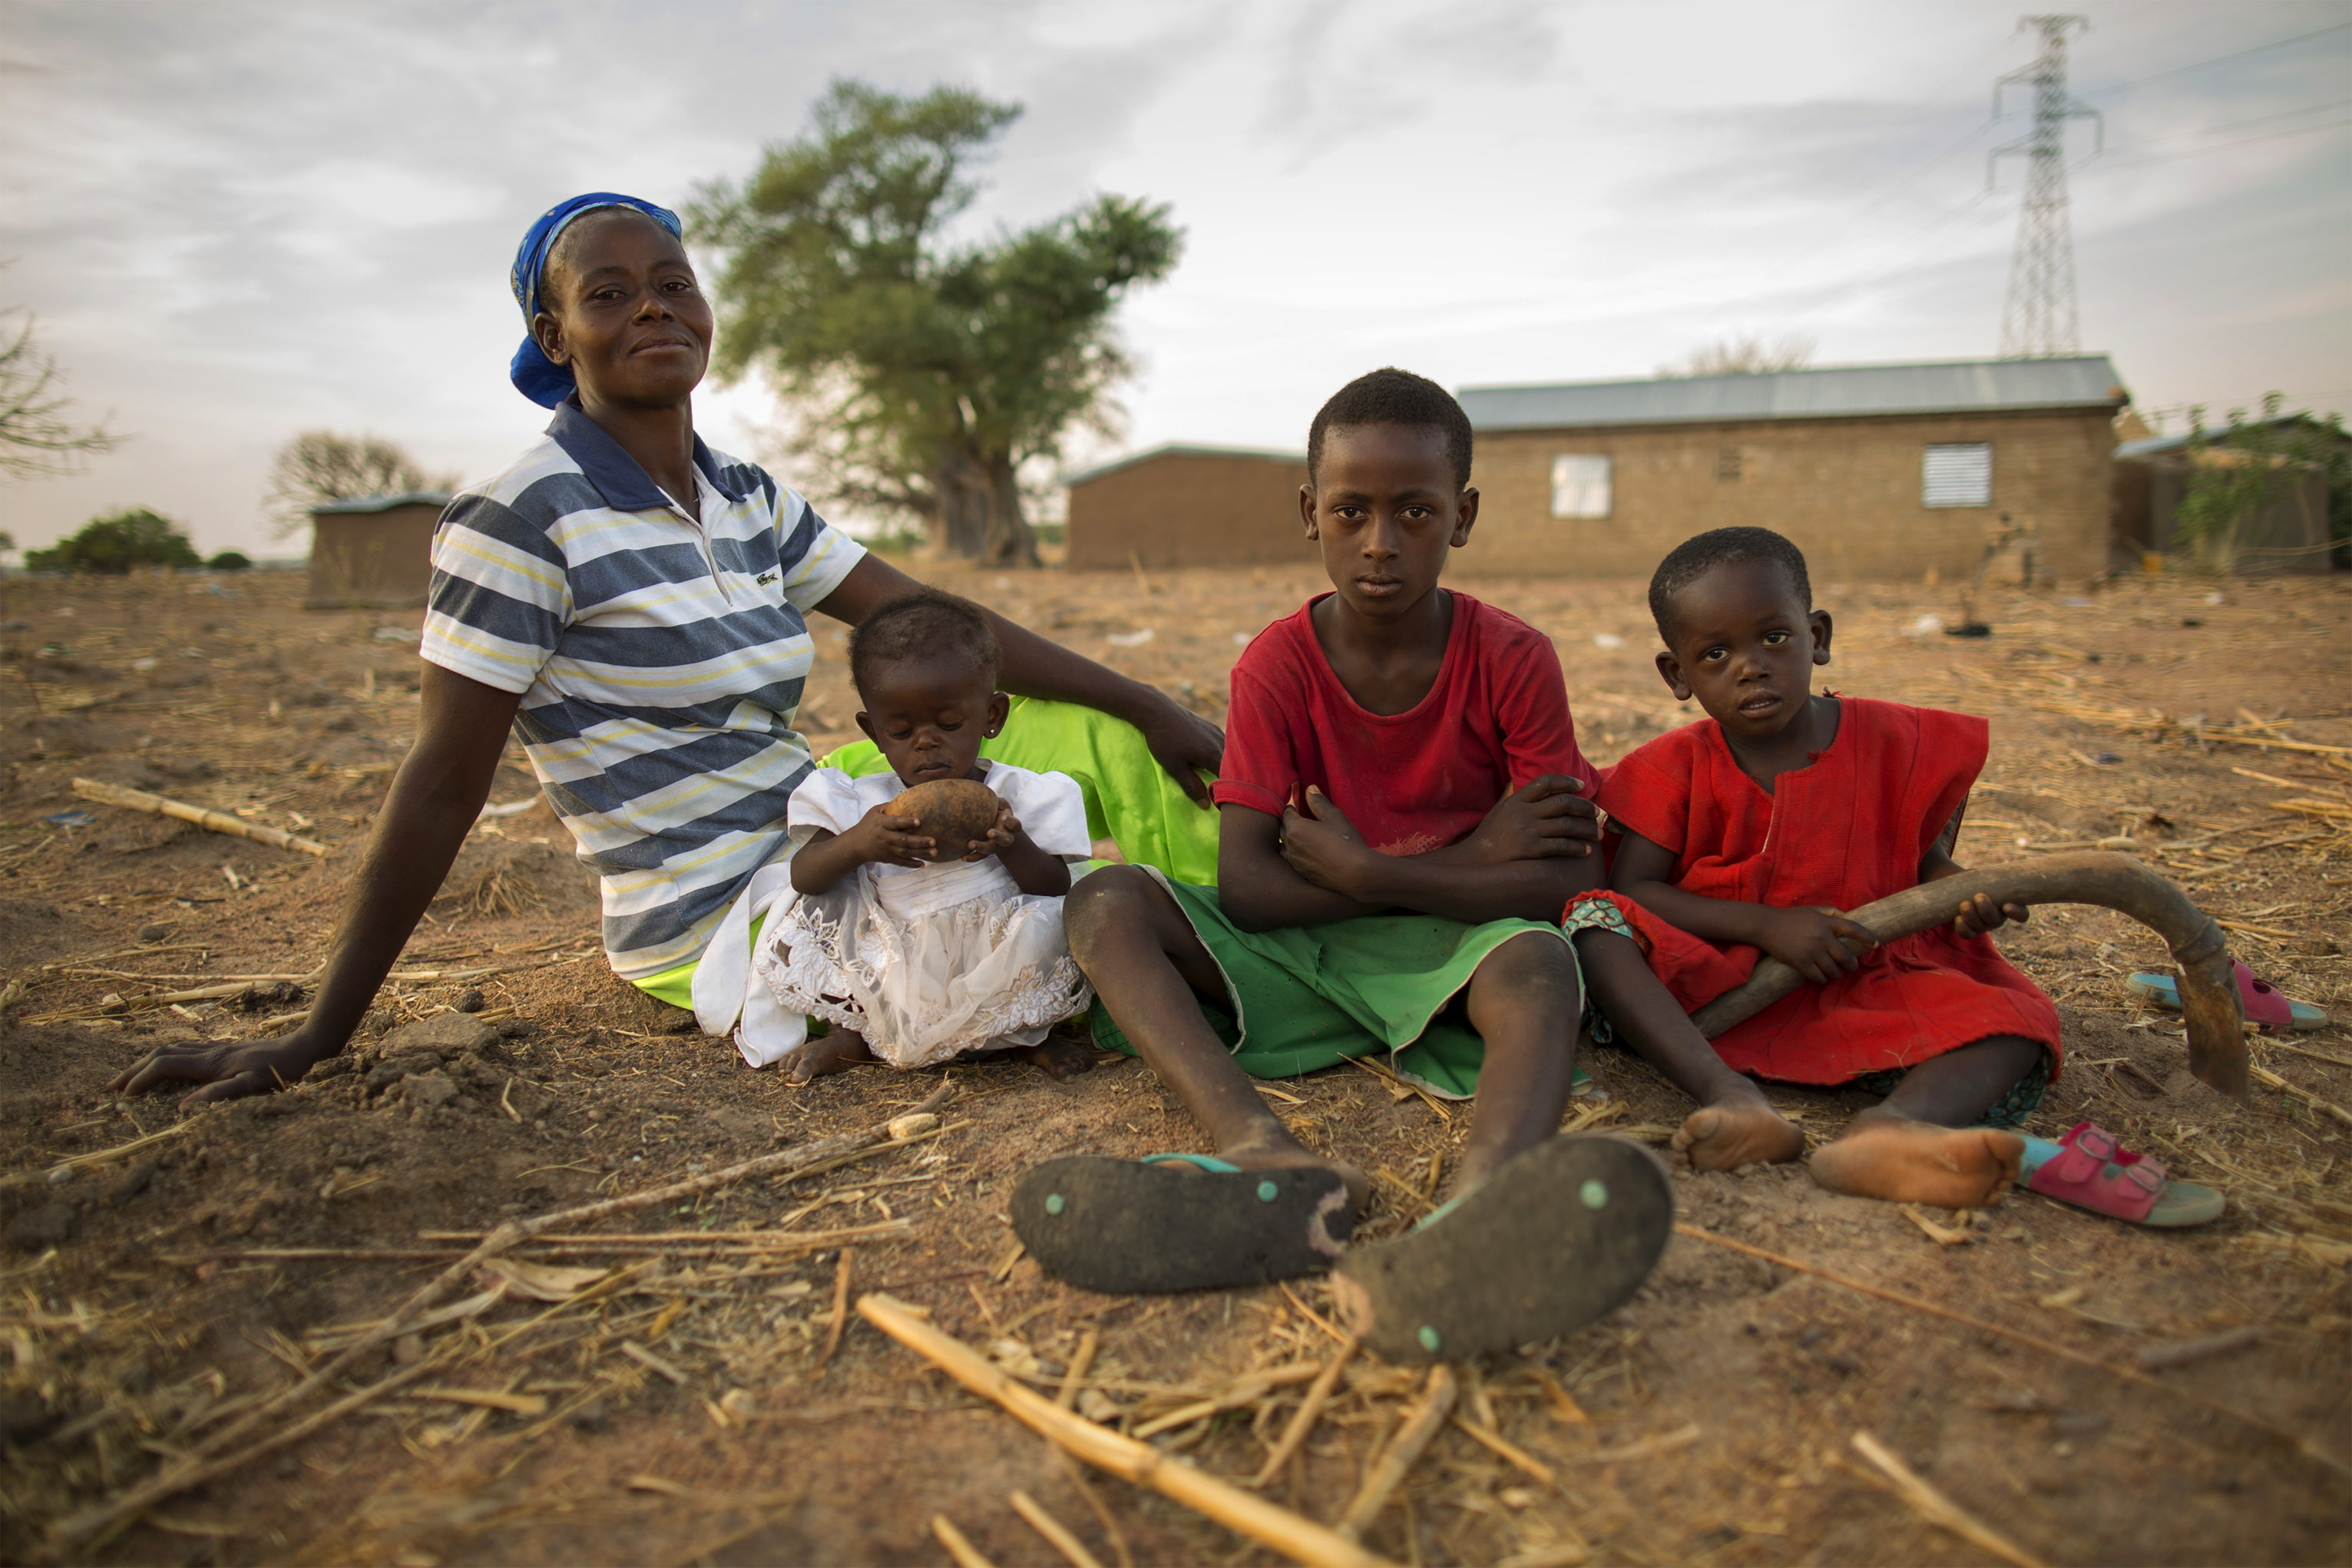
[[[1543,773],[1599,788],[1576,750],[1569,686],[1552,642],[1465,592],[1430,693],[1397,715],[1367,712],[1338,684],[1308,618],[1329,595],[1275,621],[1232,665],[1221,806],[1282,816],[1308,785],[1388,856],[1444,849],[1496,802]]]

